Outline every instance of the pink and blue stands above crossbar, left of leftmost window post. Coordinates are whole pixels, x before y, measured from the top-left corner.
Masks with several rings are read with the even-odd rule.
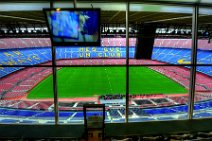
[[[5,38],[0,42],[0,65],[38,65],[52,60],[48,38]]]

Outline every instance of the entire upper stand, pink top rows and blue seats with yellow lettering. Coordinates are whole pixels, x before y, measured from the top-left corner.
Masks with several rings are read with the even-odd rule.
[[[136,39],[130,38],[130,58],[134,58],[135,43]],[[57,47],[56,58],[126,58],[125,46],[125,38],[102,38],[102,47]],[[152,57],[154,60],[185,65],[191,62],[191,39],[156,39],[154,46]],[[199,40],[198,64],[212,64],[211,49],[212,43]],[[1,65],[35,65],[51,61],[50,40],[48,38],[0,39],[0,58],[0,78],[22,68],[5,68]],[[197,67],[197,70],[212,75],[212,67]]]

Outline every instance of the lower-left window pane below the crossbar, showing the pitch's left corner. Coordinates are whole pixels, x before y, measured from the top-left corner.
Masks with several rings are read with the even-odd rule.
[[[0,123],[54,123],[51,67],[1,67],[0,74]]]

